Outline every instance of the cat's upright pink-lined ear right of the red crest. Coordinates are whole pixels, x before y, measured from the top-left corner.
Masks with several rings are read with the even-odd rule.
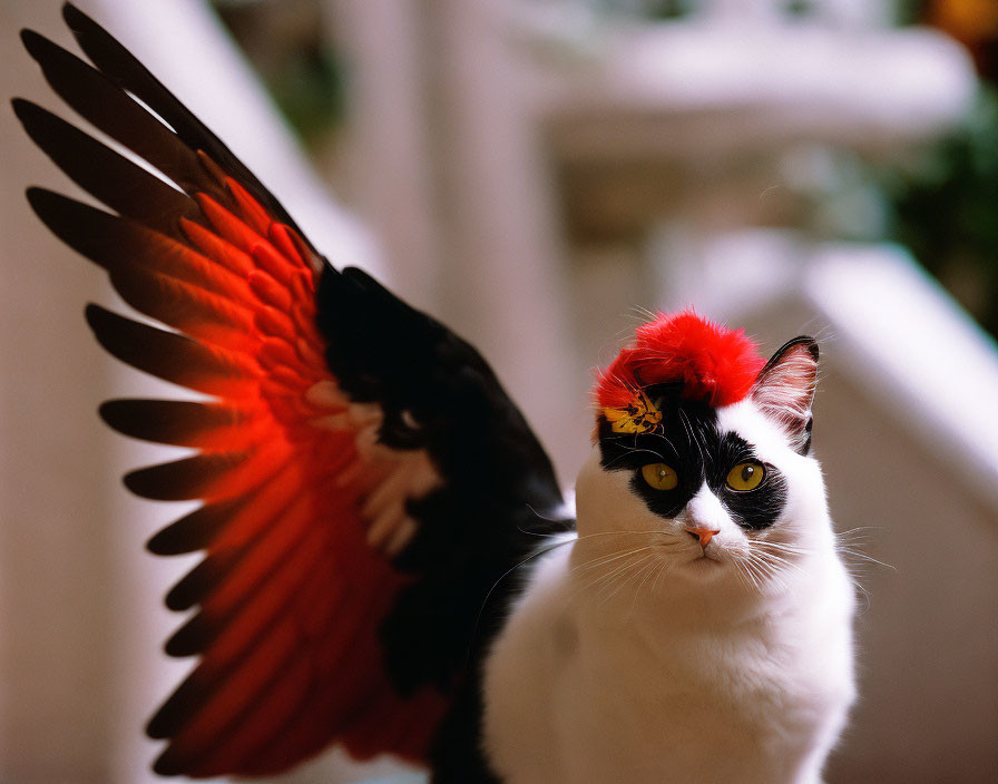
[[[794,337],[766,362],[752,388],[752,400],[786,433],[800,454],[811,451],[811,401],[818,384],[818,343]]]

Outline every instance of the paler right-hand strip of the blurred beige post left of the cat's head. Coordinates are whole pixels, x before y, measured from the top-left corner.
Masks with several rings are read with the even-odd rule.
[[[427,0],[431,138],[446,237],[441,314],[472,335],[573,482],[588,447],[539,129],[518,82],[511,3]]]

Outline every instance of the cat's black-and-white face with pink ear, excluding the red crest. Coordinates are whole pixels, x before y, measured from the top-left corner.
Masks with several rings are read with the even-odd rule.
[[[579,568],[615,575],[609,584],[668,577],[751,592],[779,587],[802,555],[826,547],[824,486],[809,457],[816,367],[814,342],[799,339],[732,405],[662,388],[648,391],[655,429],[614,432],[600,418],[577,483]]]

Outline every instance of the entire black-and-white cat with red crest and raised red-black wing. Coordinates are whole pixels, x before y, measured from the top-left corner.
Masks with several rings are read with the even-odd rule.
[[[194,450],[126,477],[200,502],[149,541],[204,552],[166,599],[196,608],[166,653],[198,661],[149,721],[154,770],[271,775],[341,744],[434,784],[816,782],[854,688],[814,342],[764,363],[693,313],[639,327],[597,382],[576,531],[473,346],[334,267],[131,52],[62,13],[89,62],[30,30],[27,51],[148,168],[14,99],[102,206],[28,199],[165,327],[90,305],[99,343],[199,395],[100,409]],[[560,546],[509,578],[538,535]]]

